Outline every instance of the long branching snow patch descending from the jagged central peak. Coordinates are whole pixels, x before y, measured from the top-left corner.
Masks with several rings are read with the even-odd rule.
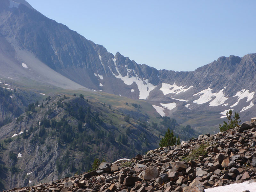
[[[114,59],[112,59],[112,60],[114,61],[114,64],[115,64],[115,66],[116,66],[116,58],[114,58]],[[110,68],[109,68],[109,69],[110,69]],[[110,70],[111,70],[111,69],[110,69]],[[123,77],[123,76],[119,73],[117,67],[116,67],[116,71],[117,71],[117,73],[118,73],[118,76],[116,76],[116,75],[112,72],[112,70],[111,70],[112,74],[113,74],[114,76],[116,76],[116,78],[119,78],[119,79],[123,80],[123,82],[124,82],[125,84],[131,85],[131,84],[133,84],[133,82],[135,82],[135,83],[137,84],[138,89],[139,89],[139,91],[140,91],[139,99],[147,99],[147,97],[148,97],[148,95],[149,95],[149,92],[156,88],[156,86],[154,86],[153,84],[148,83],[148,79],[140,79],[135,73],[134,73],[134,74],[136,75],[136,77],[133,77],[133,76],[132,76],[132,77],[129,77],[129,76],[128,76],[128,73],[126,74],[126,76]]]

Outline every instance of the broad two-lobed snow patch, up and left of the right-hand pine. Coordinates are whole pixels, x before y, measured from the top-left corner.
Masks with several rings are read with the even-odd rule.
[[[200,105],[209,102],[210,100],[212,100],[212,97],[215,97],[215,99],[210,102],[209,106],[218,106],[223,104],[228,99],[228,97],[225,97],[225,93],[223,92],[224,89],[221,89],[217,93],[212,93],[212,89],[210,88],[210,86],[207,89],[194,94],[193,96],[200,94],[202,95],[198,100],[194,100],[193,103],[197,103]]]

